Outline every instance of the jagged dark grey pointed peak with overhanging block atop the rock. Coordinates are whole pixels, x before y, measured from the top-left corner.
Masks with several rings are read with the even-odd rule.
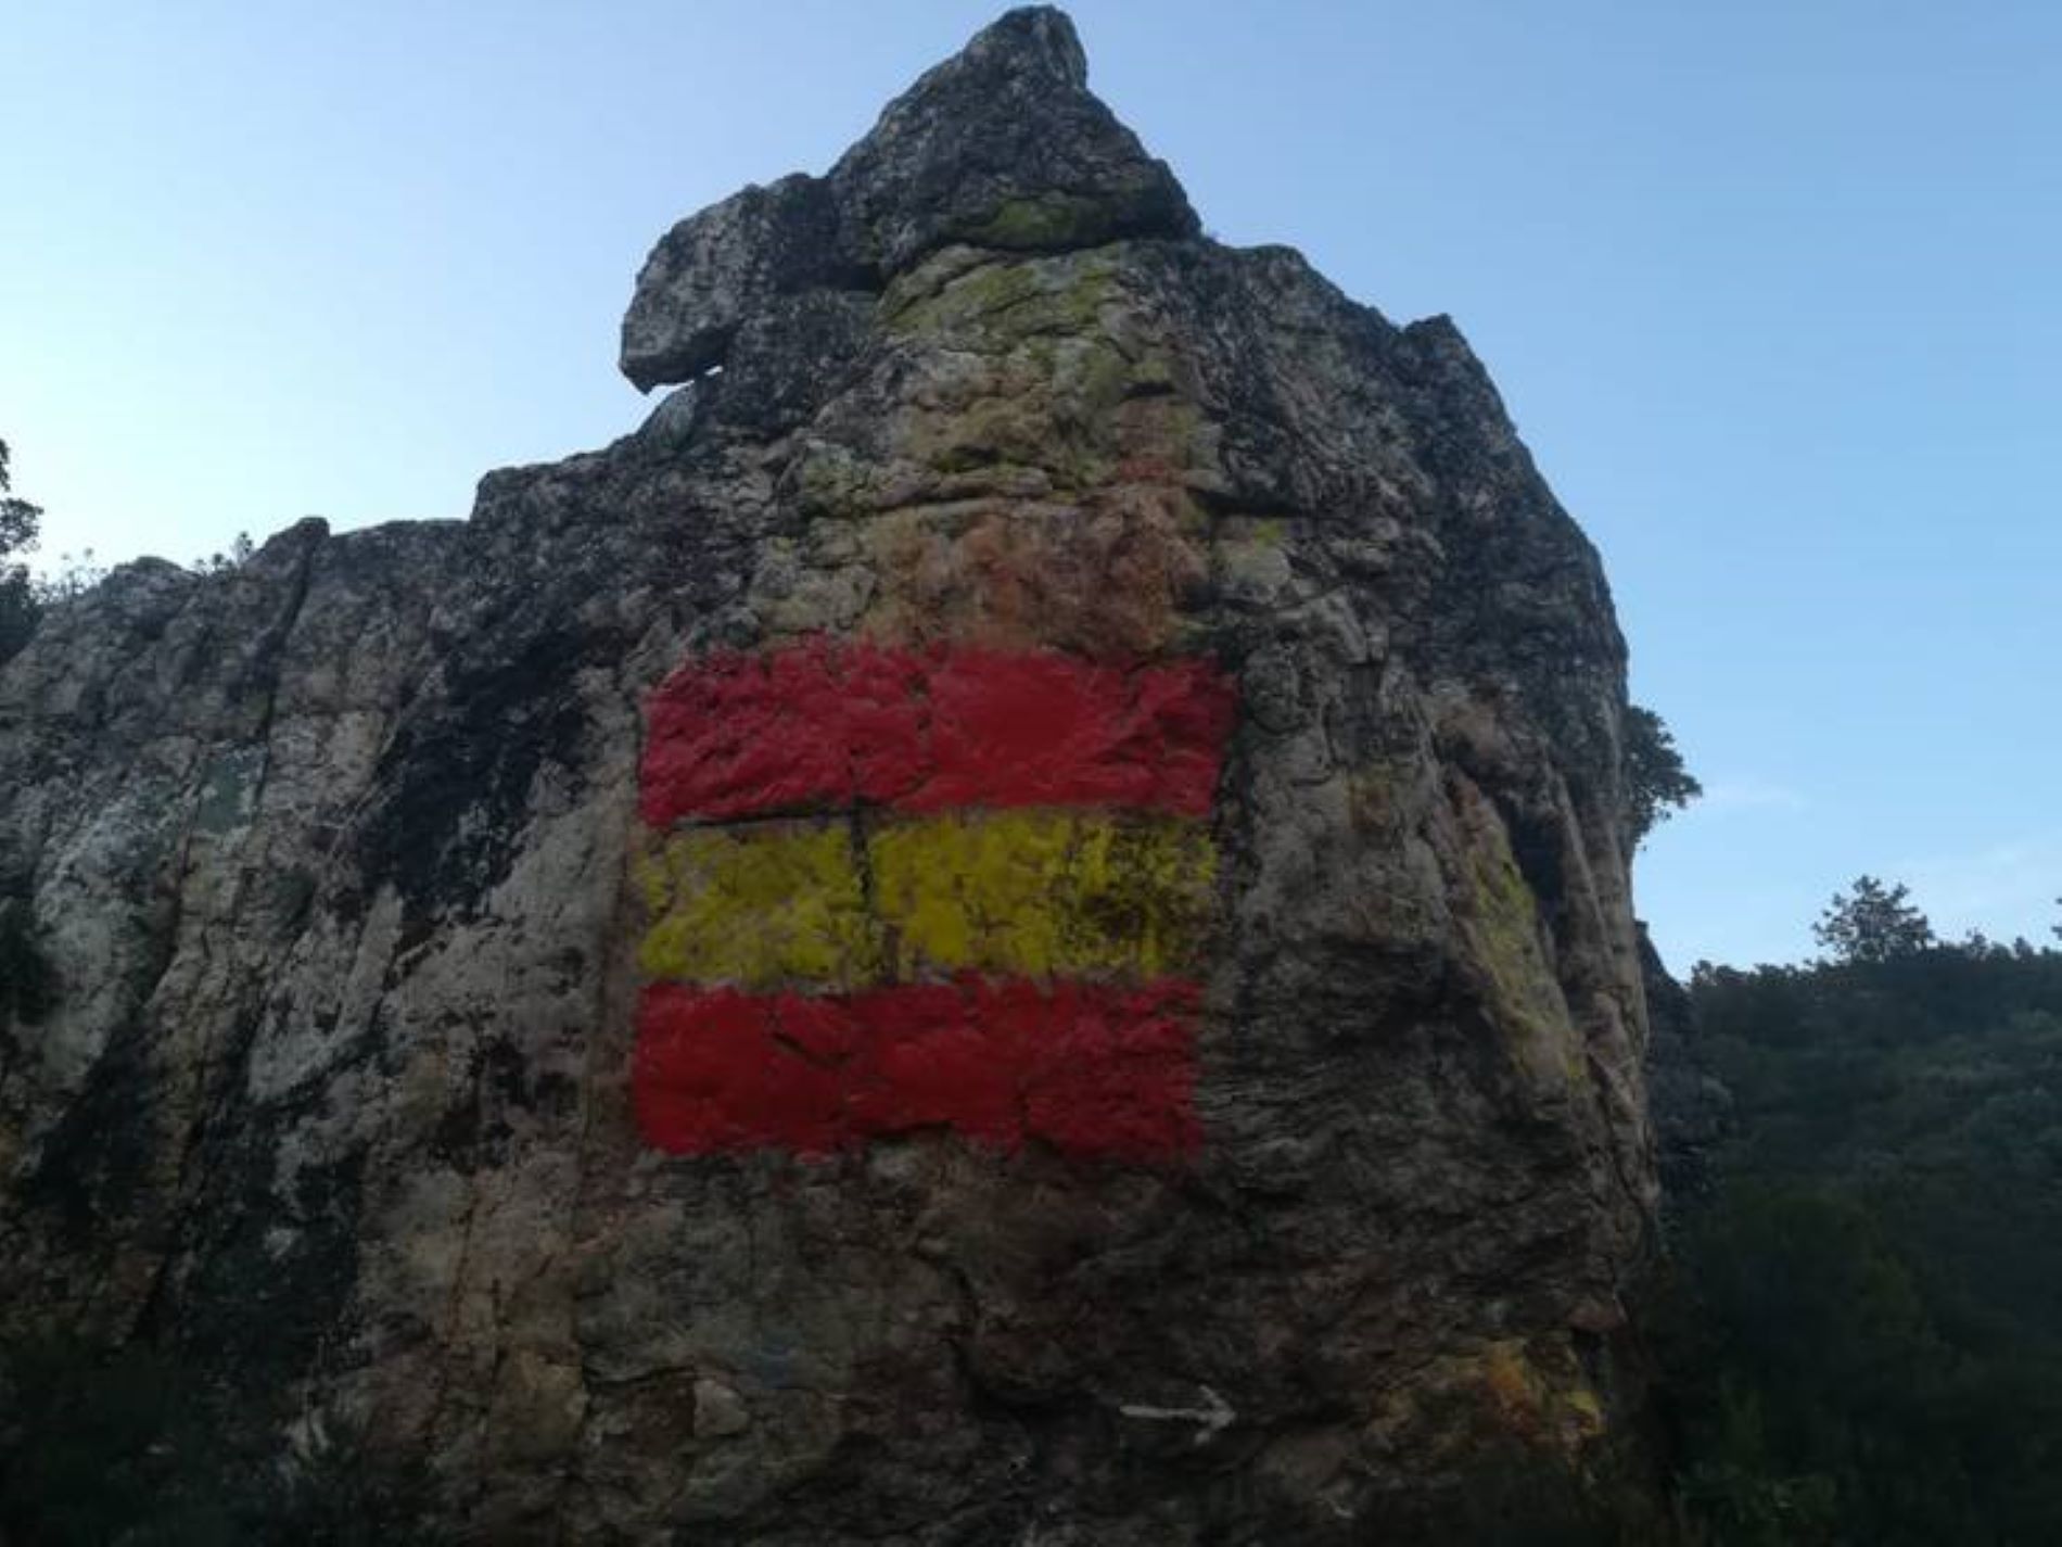
[[[623,318],[623,373],[641,390],[687,382],[773,299],[876,289],[953,241],[1066,252],[1196,235],[1167,163],[1087,83],[1064,12],[1006,12],[889,103],[829,175],[746,188],[668,231]]]

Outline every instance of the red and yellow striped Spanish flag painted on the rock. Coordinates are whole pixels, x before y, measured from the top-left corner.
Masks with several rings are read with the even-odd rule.
[[[645,1139],[1192,1149],[1231,718],[1200,660],[812,639],[683,666],[641,769]]]

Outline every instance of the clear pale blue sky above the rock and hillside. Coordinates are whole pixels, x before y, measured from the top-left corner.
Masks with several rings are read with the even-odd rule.
[[[602,446],[652,241],[823,171],[998,6],[16,8],[0,439],[43,561],[462,516]],[[1604,555],[1705,798],[1676,969],[1868,873],[2062,922],[2062,6],[1080,0],[1231,243],[1445,311]]]

